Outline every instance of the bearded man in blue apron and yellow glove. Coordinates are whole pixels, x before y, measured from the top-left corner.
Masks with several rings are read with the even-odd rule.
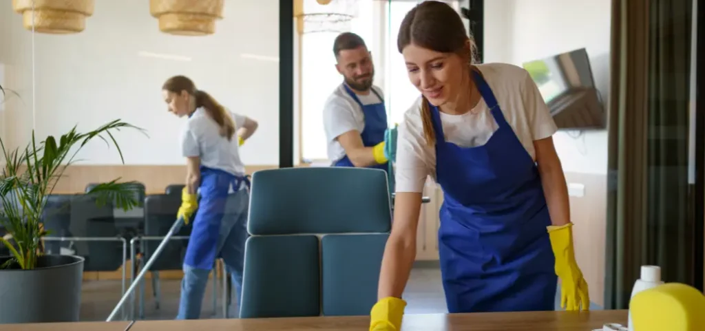
[[[352,32],[336,37],[333,54],[344,82],[336,87],[324,107],[329,159],[336,167],[388,171],[396,146],[396,130],[387,129],[381,89],[372,85],[372,55],[362,38]]]

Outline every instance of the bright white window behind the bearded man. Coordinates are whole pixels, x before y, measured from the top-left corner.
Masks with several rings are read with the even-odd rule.
[[[422,1],[358,0],[350,31],[360,35],[372,52],[374,84],[384,90],[390,125],[401,123],[419,92],[409,82],[404,58],[396,47],[401,21]],[[459,10],[458,1],[446,1]],[[338,32],[314,32],[301,38],[301,157],[302,161],[327,161],[323,106],[343,81],[336,71],[333,40]]]

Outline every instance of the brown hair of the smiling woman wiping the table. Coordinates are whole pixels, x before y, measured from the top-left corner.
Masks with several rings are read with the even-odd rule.
[[[399,53],[410,44],[440,53],[455,53],[476,63],[477,46],[472,35],[465,30],[460,15],[441,1],[424,1],[409,11],[399,27],[397,48]],[[467,45],[470,44],[468,49]],[[421,118],[424,137],[430,146],[436,144],[434,125],[431,121],[429,101],[422,96]]]

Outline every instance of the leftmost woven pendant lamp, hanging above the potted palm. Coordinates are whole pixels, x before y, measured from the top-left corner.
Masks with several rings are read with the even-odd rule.
[[[35,32],[68,34],[85,30],[86,18],[93,15],[94,4],[93,0],[12,0],[12,7],[22,14],[27,30],[32,30],[33,20]]]

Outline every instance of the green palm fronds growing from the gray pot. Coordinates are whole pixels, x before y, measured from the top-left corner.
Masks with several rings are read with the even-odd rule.
[[[59,139],[49,136],[41,142],[37,142],[32,131],[32,139],[23,149],[9,150],[0,138],[2,156],[6,161],[0,173],[0,201],[4,213],[0,225],[13,237],[13,242],[3,239],[1,244],[10,249],[21,268],[36,267],[37,257],[44,249],[41,239],[47,235],[42,230],[46,198],[54,192],[66,168],[75,162],[76,154],[92,139],[98,138],[115,146],[124,163],[122,150],[111,131],[125,128],[145,133],[140,127],[113,120],[86,133],[73,127]],[[96,194],[98,204],[113,201],[117,208],[127,210],[137,206],[134,187],[135,182],[113,180],[97,185],[88,194]]]

